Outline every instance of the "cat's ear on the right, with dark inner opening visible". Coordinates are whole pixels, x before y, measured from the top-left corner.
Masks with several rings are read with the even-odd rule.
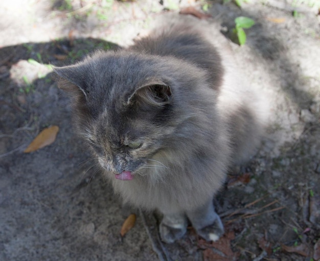
[[[128,99],[128,104],[138,102],[158,107],[170,103],[172,92],[169,85],[161,80],[152,80],[138,87]]]

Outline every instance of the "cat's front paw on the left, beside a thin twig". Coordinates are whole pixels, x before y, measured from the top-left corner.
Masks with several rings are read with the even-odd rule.
[[[162,241],[173,243],[182,238],[187,231],[187,225],[188,221],[184,213],[164,214],[159,226]]]

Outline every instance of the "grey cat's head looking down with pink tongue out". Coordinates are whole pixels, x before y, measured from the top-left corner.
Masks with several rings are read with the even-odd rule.
[[[193,112],[183,92],[203,76],[188,66],[118,51],[98,52],[55,72],[61,77],[59,87],[71,94],[77,130],[101,166],[115,174],[144,173],[164,168],[154,155],[174,147],[178,136],[186,138],[178,126]]]

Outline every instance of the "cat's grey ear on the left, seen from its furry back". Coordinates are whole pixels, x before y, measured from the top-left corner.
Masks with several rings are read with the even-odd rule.
[[[84,73],[77,65],[54,67],[54,72],[59,76],[58,87],[73,97],[87,98],[85,91]]]

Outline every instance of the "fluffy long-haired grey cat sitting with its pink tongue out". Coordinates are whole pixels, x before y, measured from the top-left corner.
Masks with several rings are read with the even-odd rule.
[[[181,21],[182,20],[182,21]],[[219,33],[179,18],[127,49],[55,68],[75,126],[125,202],[164,215],[164,242],[188,219],[205,240],[223,234],[213,197],[249,158],[261,103],[233,69]]]

